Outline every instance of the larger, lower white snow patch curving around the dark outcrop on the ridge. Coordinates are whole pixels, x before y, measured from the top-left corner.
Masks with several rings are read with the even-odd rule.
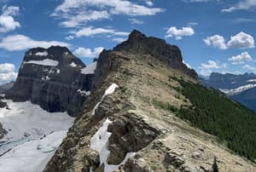
[[[97,130],[96,134],[93,135],[90,139],[90,148],[99,152],[100,154],[100,163],[104,163],[104,172],[112,172],[115,169],[118,169],[120,165],[125,164],[125,162],[135,156],[135,152],[129,152],[126,154],[125,159],[122,163],[118,165],[108,164],[108,156],[110,152],[108,151],[108,139],[112,133],[108,132],[108,126],[112,123],[108,118],[103,123],[103,126]],[[91,169],[92,171],[92,169]]]

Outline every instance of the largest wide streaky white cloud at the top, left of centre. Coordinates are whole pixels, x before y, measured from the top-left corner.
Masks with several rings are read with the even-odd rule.
[[[147,16],[163,12],[164,9],[152,8],[152,1],[145,1],[148,6],[127,0],[64,0],[51,16],[61,19],[61,26],[78,27],[90,20],[109,19],[112,15]]]

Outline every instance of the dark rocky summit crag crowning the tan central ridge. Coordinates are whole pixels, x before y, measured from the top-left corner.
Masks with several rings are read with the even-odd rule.
[[[143,33],[134,30],[131,32],[129,39],[120,43],[114,51],[127,51],[132,54],[150,54],[166,62],[169,66],[177,71],[183,72],[189,77],[198,80],[198,75],[194,69],[189,69],[183,64],[183,57],[180,49],[175,45],[166,43],[165,40],[157,37],[146,37]]]

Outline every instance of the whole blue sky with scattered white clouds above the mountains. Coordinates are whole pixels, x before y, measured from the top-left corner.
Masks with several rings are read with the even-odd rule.
[[[176,44],[202,75],[256,72],[255,0],[0,0],[0,83],[32,47],[67,46],[85,64],[137,29]]]

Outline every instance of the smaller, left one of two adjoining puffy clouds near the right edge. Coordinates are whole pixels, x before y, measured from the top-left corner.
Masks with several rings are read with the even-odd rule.
[[[218,49],[227,49],[225,39],[220,35],[213,35],[212,37],[207,37],[206,39],[204,39],[204,42],[208,46],[212,45],[213,47]]]

